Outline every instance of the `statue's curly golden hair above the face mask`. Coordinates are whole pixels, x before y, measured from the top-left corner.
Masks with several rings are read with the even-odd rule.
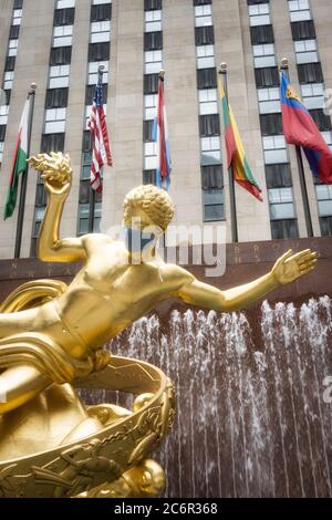
[[[132,189],[124,200],[124,225],[132,226],[133,211],[142,209],[164,231],[174,217],[174,205],[169,195],[153,185]]]

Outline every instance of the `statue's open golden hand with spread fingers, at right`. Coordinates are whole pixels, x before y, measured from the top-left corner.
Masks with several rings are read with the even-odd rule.
[[[317,261],[317,252],[312,252],[310,249],[297,254],[293,254],[293,250],[290,249],[277,260],[272,274],[278,283],[286,285],[313,271]]]

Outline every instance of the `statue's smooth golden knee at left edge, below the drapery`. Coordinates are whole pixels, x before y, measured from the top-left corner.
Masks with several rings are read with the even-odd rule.
[[[0,415],[35,397],[52,381],[30,365],[7,368],[0,374]]]

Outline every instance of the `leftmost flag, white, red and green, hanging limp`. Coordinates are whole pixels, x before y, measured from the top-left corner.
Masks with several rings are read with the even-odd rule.
[[[25,101],[14,148],[13,165],[7,191],[4,220],[12,216],[18,199],[19,177],[27,169],[30,100]]]

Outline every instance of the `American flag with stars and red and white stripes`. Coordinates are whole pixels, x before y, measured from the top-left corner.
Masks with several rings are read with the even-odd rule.
[[[97,84],[95,85],[93,105],[91,108],[87,126],[90,128],[93,145],[90,186],[96,191],[102,191],[103,167],[105,165],[113,166],[113,159],[110,149],[106,117],[103,107],[103,84],[101,80],[98,80]]]

